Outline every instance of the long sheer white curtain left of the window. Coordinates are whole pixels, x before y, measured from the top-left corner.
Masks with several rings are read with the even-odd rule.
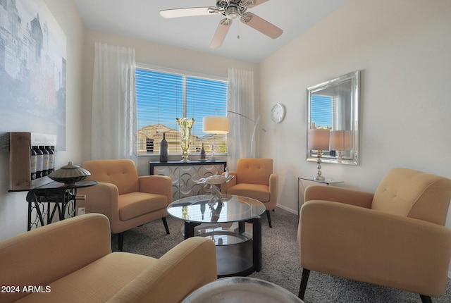
[[[135,49],[95,43],[92,159],[137,163]]]

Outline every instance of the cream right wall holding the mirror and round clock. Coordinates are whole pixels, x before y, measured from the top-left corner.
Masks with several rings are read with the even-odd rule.
[[[261,63],[264,155],[280,174],[280,204],[297,211],[305,160],[306,88],[362,70],[360,166],[324,163],[342,186],[373,191],[394,167],[451,178],[451,2],[349,0]],[[285,104],[283,123],[269,119]],[[451,211],[447,226],[451,227]]]

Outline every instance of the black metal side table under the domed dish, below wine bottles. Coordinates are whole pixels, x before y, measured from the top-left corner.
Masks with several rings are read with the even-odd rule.
[[[28,190],[27,230],[31,230],[33,227],[38,228],[38,224],[41,226],[50,224],[53,221],[56,211],[58,211],[60,221],[65,218],[75,217],[75,211],[77,210],[76,200],[86,199],[86,197],[77,196],[77,189],[94,185],[97,185],[97,181],[82,180],[70,185],[54,181]],[[44,205],[45,203],[47,203],[47,210]],[[35,210],[34,218],[32,218],[33,210]],[[44,220],[46,217],[47,223]]]

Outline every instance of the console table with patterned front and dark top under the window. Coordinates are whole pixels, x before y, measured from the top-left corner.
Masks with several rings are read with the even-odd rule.
[[[150,161],[150,175],[167,175],[172,179],[173,200],[209,194],[210,187],[197,184],[210,175],[221,175],[226,171],[227,161]]]

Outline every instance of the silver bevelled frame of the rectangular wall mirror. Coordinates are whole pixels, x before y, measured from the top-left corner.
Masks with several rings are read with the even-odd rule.
[[[360,140],[359,140],[359,107],[360,107],[360,70],[356,70],[352,73],[347,73],[346,75],[341,75],[338,78],[322,82],[319,85],[314,85],[307,88],[307,161],[316,162],[318,159],[316,151],[309,149],[309,130],[311,128],[311,97],[315,94],[320,94],[326,89],[336,89],[338,87],[344,87],[350,85],[350,104],[347,108],[347,113],[349,113],[349,120],[347,120],[346,129],[351,130],[351,140],[352,147],[350,151],[343,154],[342,159],[338,159],[329,152],[324,152],[321,156],[322,163],[335,163],[335,164],[347,164],[347,165],[360,165]]]

